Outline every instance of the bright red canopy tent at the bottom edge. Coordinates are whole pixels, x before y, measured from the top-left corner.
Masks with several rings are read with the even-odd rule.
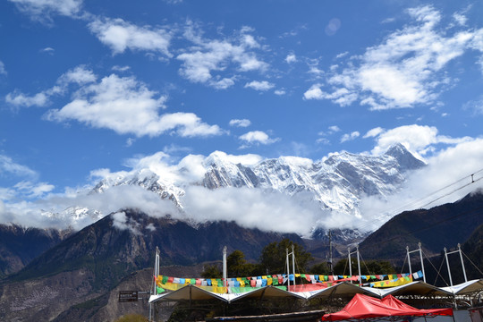
[[[416,309],[397,300],[393,295],[387,295],[379,300],[368,295],[356,294],[342,310],[324,315],[322,321],[436,315],[453,316],[453,309]]]

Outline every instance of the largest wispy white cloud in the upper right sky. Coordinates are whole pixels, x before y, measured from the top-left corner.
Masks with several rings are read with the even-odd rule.
[[[394,31],[363,55],[350,57],[342,71],[331,70],[326,80],[304,94],[305,99],[329,99],[340,106],[360,105],[391,109],[434,103],[451,81],[445,66],[474,44],[479,30],[437,30],[440,13],[432,6],[407,12],[412,23]]]

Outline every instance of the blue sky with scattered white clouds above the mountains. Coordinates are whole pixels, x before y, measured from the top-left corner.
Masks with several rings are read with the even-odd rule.
[[[159,151],[318,160],[402,142],[481,160],[482,16],[479,1],[3,1],[0,212]],[[468,160],[453,165],[479,170]]]

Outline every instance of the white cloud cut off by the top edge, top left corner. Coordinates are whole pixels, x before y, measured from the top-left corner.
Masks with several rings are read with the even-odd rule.
[[[80,12],[83,0],[9,0],[22,12],[35,20],[50,20],[51,14],[75,16]]]

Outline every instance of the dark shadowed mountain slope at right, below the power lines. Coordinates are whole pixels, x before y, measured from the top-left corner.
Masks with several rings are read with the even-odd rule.
[[[466,242],[483,225],[483,191],[435,208],[405,211],[394,216],[360,243],[364,258],[404,258],[421,242],[428,255]]]

